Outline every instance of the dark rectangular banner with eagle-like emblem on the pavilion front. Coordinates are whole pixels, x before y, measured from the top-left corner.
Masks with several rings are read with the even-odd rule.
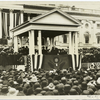
[[[44,55],[42,68],[45,70],[67,69],[71,66],[71,58],[68,55]]]

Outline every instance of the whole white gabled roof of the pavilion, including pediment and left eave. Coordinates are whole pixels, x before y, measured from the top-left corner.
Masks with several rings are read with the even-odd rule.
[[[20,35],[29,30],[45,30],[45,31],[77,31],[81,23],[69,14],[59,9],[51,10],[43,15],[32,18],[21,25],[16,26],[11,31],[15,35]],[[60,33],[51,33],[54,36]],[[61,33],[63,34],[63,33]],[[65,34],[65,33],[64,33]]]

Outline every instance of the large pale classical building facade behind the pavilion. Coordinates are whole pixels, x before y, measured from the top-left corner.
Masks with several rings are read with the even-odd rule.
[[[81,23],[78,27],[78,48],[100,47],[100,10],[68,6],[2,5],[0,6],[0,39],[7,39],[8,45],[11,46],[11,40],[13,39],[11,29],[55,8],[62,10]],[[25,43],[27,40],[25,40],[25,37],[20,40],[22,40],[22,45],[27,44]],[[49,38],[44,41],[49,41]],[[55,37],[54,45],[58,48],[66,48],[69,45],[69,34]]]

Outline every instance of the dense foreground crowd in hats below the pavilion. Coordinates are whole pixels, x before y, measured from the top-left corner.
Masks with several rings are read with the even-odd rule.
[[[100,95],[100,69],[0,70],[0,96]]]

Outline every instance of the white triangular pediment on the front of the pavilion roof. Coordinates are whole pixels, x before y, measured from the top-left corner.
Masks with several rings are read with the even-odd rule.
[[[34,23],[44,24],[62,24],[62,25],[79,25],[79,21],[61,10],[54,9],[46,14],[40,15],[30,20]]]

